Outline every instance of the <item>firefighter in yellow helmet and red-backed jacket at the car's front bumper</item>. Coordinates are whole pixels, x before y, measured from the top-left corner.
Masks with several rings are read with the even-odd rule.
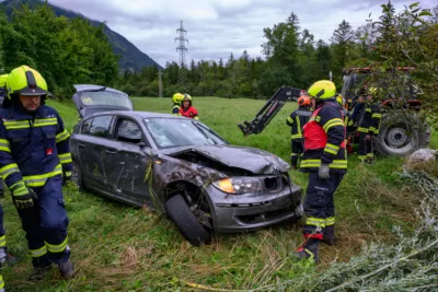
[[[298,258],[319,261],[321,242],[334,244],[333,194],[347,172],[343,112],[336,102],[336,86],[321,80],[308,91],[314,110],[303,127],[304,153],[301,172],[309,173],[304,199],[304,243],[295,250]]]

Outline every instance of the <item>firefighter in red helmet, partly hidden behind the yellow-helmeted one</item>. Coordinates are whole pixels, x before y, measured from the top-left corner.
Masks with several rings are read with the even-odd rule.
[[[299,155],[302,153],[302,127],[308,122],[310,115],[310,98],[309,96],[300,96],[297,100],[298,109],[293,110],[290,116],[286,119],[286,124],[291,127],[290,132],[290,144],[291,144],[291,154],[290,154],[290,164],[293,170],[297,170],[297,162]]]

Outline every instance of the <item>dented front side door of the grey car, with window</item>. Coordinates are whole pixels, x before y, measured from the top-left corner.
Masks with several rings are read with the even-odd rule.
[[[150,148],[141,127],[132,118],[117,117],[114,128],[114,144],[104,160],[110,174],[111,188],[134,205],[151,203],[151,186],[148,179],[152,159],[145,148]],[[113,151],[111,157],[110,151]]]

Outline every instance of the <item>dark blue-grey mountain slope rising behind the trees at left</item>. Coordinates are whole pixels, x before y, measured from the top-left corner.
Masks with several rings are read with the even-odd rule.
[[[35,4],[41,4],[44,1],[42,0],[0,0],[0,5],[5,7],[5,12],[8,15],[11,15],[12,10],[14,8],[20,7],[21,4],[28,4],[33,7]],[[50,8],[54,9],[56,15],[66,16],[69,19],[73,17],[83,17],[90,21],[92,25],[101,25],[102,23],[95,20],[90,20],[84,15],[77,13],[71,10],[66,10],[54,4],[48,3]],[[112,31],[107,25],[104,24],[104,33],[108,37],[110,43],[113,46],[113,51],[120,56],[119,66],[122,70],[130,69],[135,71],[141,70],[143,67],[157,66],[160,69],[163,69],[159,63],[157,63],[152,58],[148,55],[139,50],[132,43],[126,39],[123,35]]]

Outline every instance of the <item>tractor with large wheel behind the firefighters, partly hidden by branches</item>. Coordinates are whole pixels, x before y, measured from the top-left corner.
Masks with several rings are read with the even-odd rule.
[[[373,139],[373,148],[382,155],[404,156],[428,145],[430,141],[430,128],[420,113],[422,103],[417,95],[419,89],[412,82],[412,71],[415,68],[397,68],[397,85],[380,82],[380,105],[382,119],[379,135]],[[344,84],[341,91],[345,98],[345,108],[353,113],[357,104],[358,95],[368,86],[372,70],[370,68],[347,68],[343,70]],[[401,74],[403,73],[403,74]],[[376,77],[376,74],[374,74]],[[376,78],[374,78],[376,80]],[[391,87],[395,87],[391,90]],[[382,95],[384,96],[383,98]],[[400,97],[402,96],[402,97]],[[349,127],[349,152],[351,144],[358,141],[357,125]]]

